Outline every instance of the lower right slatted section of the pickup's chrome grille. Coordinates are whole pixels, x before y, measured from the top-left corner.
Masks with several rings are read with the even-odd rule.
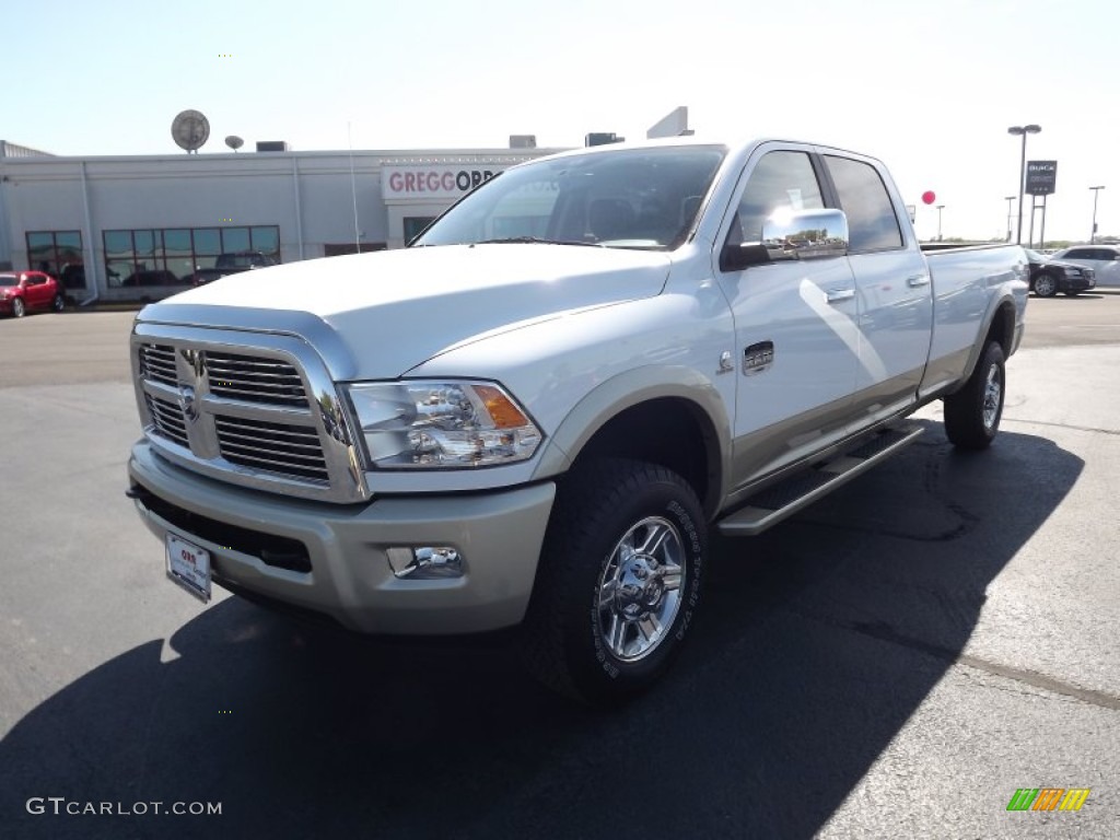
[[[328,482],[318,432],[242,417],[214,418],[222,457],[231,464],[292,478]]]

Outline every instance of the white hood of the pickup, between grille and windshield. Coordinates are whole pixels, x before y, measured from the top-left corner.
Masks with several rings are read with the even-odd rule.
[[[579,245],[381,251],[233,274],[139,319],[299,335],[336,380],[391,379],[489,335],[654,297],[669,267],[663,252]]]

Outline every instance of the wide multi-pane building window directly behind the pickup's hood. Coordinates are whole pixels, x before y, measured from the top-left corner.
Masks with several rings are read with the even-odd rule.
[[[113,288],[188,286],[198,269],[214,268],[218,254],[259,251],[280,262],[277,225],[105,231],[103,237]]]

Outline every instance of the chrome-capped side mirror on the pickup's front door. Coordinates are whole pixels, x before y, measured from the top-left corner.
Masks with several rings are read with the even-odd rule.
[[[778,211],[763,223],[762,242],[727,245],[724,271],[783,260],[815,260],[848,253],[848,217],[839,209]]]

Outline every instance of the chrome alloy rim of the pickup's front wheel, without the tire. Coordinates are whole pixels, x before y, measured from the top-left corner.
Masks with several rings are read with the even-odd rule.
[[[633,525],[618,541],[599,576],[599,637],[623,662],[656,650],[681,608],[684,543],[661,516]]]

